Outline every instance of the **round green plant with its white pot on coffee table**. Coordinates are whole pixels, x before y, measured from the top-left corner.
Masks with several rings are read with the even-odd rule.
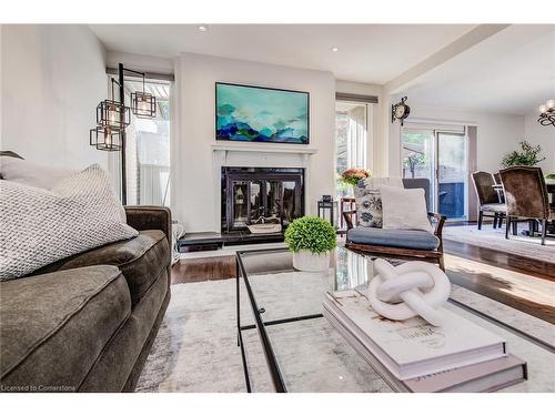
[[[293,252],[293,267],[302,272],[322,272],[330,267],[330,251],[335,248],[337,240],[332,224],[307,215],[287,226],[285,244]]]

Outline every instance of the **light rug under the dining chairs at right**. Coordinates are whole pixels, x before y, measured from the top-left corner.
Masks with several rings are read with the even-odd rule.
[[[443,229],[443,239],[555,263],[555,239],[546,239],[546,245],[541,244],[539,237],[524,235],[511,234],[506,240],[503,229],[493,230],[490,224],[482,230],[476,225],[447,226]]]

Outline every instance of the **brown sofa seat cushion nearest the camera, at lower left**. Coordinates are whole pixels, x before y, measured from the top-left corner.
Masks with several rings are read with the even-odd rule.
[[[130,314],[129,288],[114,266],[0,283],[4,390],[79,388]]]

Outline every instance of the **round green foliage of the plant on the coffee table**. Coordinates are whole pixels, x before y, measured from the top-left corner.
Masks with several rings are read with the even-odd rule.
[[[296,219],[285,231],[285,244],[293,253],[306,250],[313,254],[323,254],[335,248],[336,239],[332,224],[314,215]]]

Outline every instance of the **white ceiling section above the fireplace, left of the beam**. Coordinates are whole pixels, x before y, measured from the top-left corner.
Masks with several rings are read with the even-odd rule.
[[[385,84],[474,24],[91,24],[109,51],[202,53],[332,72]],[[332,48],[337,48],[336,52]]]

